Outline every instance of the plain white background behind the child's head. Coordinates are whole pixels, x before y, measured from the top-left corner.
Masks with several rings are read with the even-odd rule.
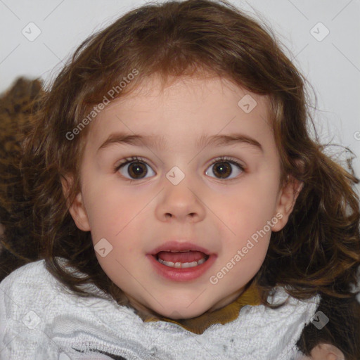
[[[0,0],[0,92],[22,75],[50,82],[86,37],[146,2]],[[314,86],[318,99],[314,115],[321,141],[347,146],[359,157],[360,0],[230,2],[270,25],[288,49],[285,52]],[[30,31],[30,22],[41,31],[34,41],[22,33]],[[325,34],[325,28],[314,27],[319,22],[329,31],[322,41],[311,34],[313,28],[320,37]],[[343,149],[334,146],[329,150]],[[353,165],[360,177],[359,158]]]

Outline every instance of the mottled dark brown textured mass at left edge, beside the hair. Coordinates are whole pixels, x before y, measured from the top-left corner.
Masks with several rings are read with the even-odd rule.
[[[33,207],[25,198],[19,162],[41,87],[39,79],[22,77],[0,96],[0,280],[39,259],[39,239],[30,231]]]

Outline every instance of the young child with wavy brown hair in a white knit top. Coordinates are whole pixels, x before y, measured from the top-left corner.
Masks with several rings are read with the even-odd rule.
[[[359,179],[305,81],[225,1],[86,39],[21,143],[0,359],[359,359]]]

